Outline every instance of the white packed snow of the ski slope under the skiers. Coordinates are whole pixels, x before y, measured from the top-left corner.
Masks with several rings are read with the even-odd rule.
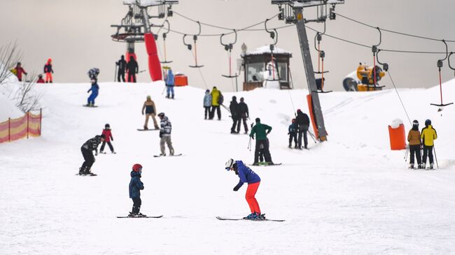
[[[393,119],[410,128],[394,90],[321,94],[328,141],[309,138],[303,151],[288,149],[286,133],[293,112],[307,112],[307,91],[224,93],[226,105],[243,96],[251,119],[273,127],[272,159],[283,165],[251,167],[262,213],[286,219],[272,222],[216,219],[249,214],[246,185],[232,191],[239,179],[224,169],[229,158],[253,162],[248,136],[230,134],[224,109],[221,121],[204,120],[204,90],[176,87],[169,100],[163,86],[101,83],[98,108],[82,106],[88,83],[38,86],[43,136],[0,144],[0,254],[455,254],[455,106],[430,106],[438,87],[399,91],[411,122],[431,119],[437,130],[438,170],[409,170],[405,151],[390,150]],[[444,93],[455,101],[454,81]],[[158,132],[137,131],[147,95],[183,156],[154,158]],[[106,123],[118,154],[106,146],[98,176],[76,176],[80,146]],[[134,163],[144,166],[141,212],[161,219],[116,218],[132,207]]]

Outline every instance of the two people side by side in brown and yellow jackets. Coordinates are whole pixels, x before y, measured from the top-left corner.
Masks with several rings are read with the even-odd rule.
[[[426,119],[425,127],[419,131],[419,122],[414,120],[412,122],[412,129],[407,134],[407,141],[409,142],[409,168],[414,169],[414,155],[417,159],[417,168],[426,169],[426,159],[430,159],[430,166],[428,169],[433,169],[433,149],[434,141],[437,139],[436,130],[431,126],[431,120]],[[423,156],[421,156],[423,150]]]

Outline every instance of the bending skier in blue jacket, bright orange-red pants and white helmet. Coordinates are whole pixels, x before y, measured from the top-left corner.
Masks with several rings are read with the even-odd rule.
[[[235,174],[239,176],[240,181],[234,187],[234,191],[238,191],[240,187],[244,184],[244,182],[248,182],[248,188],[246,188],[246,202],[248,203],[251,214],[244,217],[244,219],[251,219],[251,220],[265,220],[265,214],[260,214],[260,208],[258,201],[255,198],[255,194],[258,191],[258,187],[260,184],[260,177],[256,173],[248,168],[248,166],[244,165],[242,161],[234,161],[234,159],[228,159],[225,164],[226,170],[233,170]]]

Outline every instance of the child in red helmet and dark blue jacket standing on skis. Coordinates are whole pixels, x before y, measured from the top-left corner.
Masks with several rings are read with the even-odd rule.
[[[130,173],[130,198],[133,200],[133,208],[128,217],[147,217],[145,214],[141,214],[141,189],[144,189],[144,183],[141,182],[142,166],[139,163],[133,165]]]

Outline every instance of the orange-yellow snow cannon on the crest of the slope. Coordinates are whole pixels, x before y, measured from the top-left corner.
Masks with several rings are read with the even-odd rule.
[[[349,73],[343,80],[343,87],[346,92],[370,92],[381,90],[384,86],[379,86],[377,82],[386,73],[379,66],[367,66],[359,63],[356,71]],[[376,77],[374,77],[376,76]]]

